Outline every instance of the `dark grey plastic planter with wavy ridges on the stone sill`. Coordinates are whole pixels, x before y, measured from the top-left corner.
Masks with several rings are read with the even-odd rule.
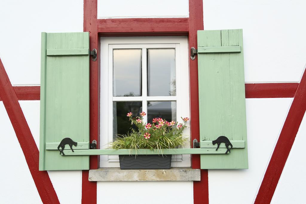
[[[171,154],[119,155],[120,169],[170,169]]]

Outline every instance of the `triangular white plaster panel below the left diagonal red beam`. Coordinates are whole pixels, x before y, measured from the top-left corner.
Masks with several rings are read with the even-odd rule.
[[[0,138],[0,203],[42,203],[2,101]]]

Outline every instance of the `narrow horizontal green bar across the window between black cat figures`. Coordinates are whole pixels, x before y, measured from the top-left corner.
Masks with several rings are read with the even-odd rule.
[[[48,151],[54,151],[54,150],[48,150]],[[190,149],[162,149],[162,150],[156,150],[152,151],[150,149],[139,149],[137,151],[135,150],[129,150],[129,149],[122,149],[122,150],[112,150],[112,149],[99,149],[99,150],[71,150],[67,149],[64,150],[65,155],[149,155],[149,154],[224,154],[226,152],[226,149],[220,148],[217,151],[212,148],[190,148]],[[57,151],[58,152],[58,151]],[[226,155],[225,155],[226,156]]]

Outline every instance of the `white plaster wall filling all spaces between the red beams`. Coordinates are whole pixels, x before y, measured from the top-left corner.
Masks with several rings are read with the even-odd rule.
[[[204,28],[243,28],[247,82],[299,81],[306,63],[305,7],[306,2],[302,0],[204,0]],[[188,0],[120,0],[115,4],[98,0],[99,18],[187,16]],[[40,32],[82,32],[83,0],[0,1],[0,19],[0,58],[12,84],[39,84]],[[12,54],[15,51],[17,57]],[[228,203],[228,197],[235,198],[236,203],[253,202],[291,101],[287,98],[246,100],[249,169],[209,170],[210,203]],[[38,144],[39,101],[19,102]],[[305,163],[300,156],[306,131],[304,120],[272,203],[304,201]],[[3,166],[9,166],[12,161],[17,166],[0,170],[0,202],[41,203],[2,102],[0,136],[3,144],[16,147],[11,151],[9,146],[2,146]],[[61,203],[80,203],[81,171],[48,173]],[[69,188],[62,185],[63,180],[70,181]],[[225,185],[226,182],[230,184]],[[97,186],[98,203],[193,202],[192,182],[98,182]],[[153,200],[152,192],[160,196]]]

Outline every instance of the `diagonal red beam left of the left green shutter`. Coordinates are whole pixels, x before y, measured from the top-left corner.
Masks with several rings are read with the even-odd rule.
[[[15,130],[37,191],[43,203],[59,203],[47,171],[39,171],[39,151],[0,59],[0,97]]]

